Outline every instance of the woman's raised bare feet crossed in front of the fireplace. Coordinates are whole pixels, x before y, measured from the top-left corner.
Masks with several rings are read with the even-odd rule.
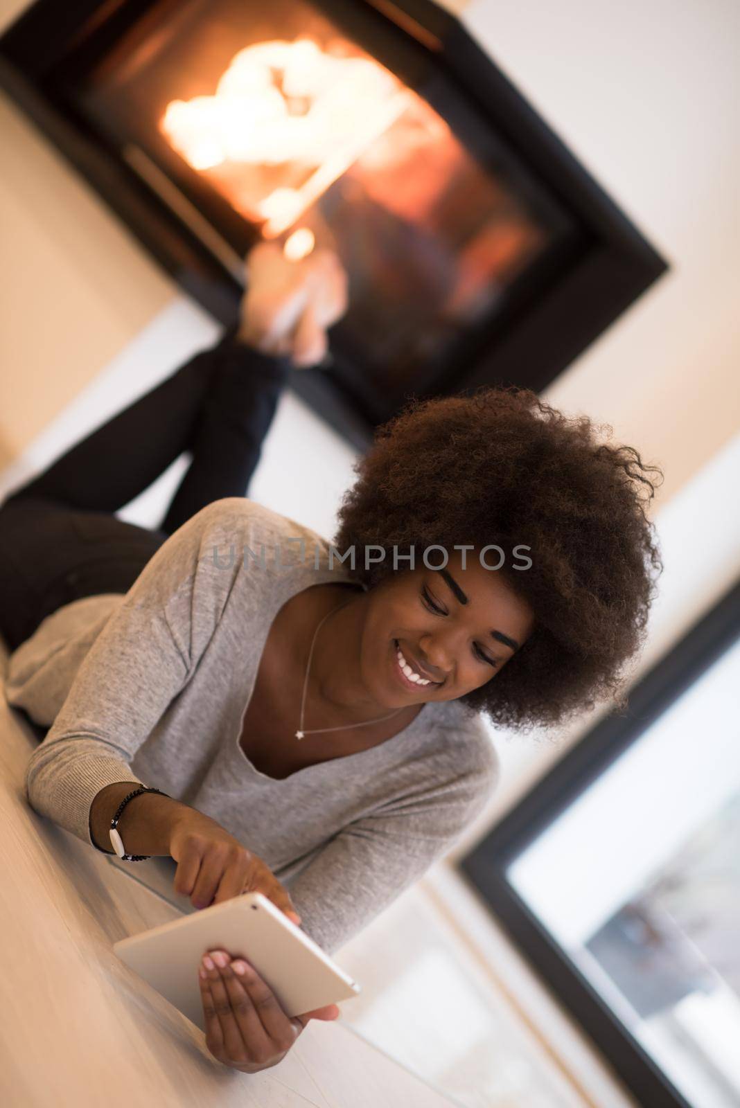
[[[259,243],[247,255],[245,279],[241,341],[290,355],[298,368],[321,361],[327,328],[347,310],[348,278],[337,254],[317,249],[290,261],[277,243]]]

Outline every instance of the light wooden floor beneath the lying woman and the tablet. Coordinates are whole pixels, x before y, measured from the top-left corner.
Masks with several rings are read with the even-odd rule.
[[[4,664],[0,643],[0,685]],[[177,910],[29,807],[24,768],[35,745],[20,714],[0,698],[0,1102],[19,1108],[453,1104],[341,1016],[333,1023],[311,1020],[286,1058],[260,1074],[216,1061],[203,1034],[112,951],[119,938],[176,919]]]

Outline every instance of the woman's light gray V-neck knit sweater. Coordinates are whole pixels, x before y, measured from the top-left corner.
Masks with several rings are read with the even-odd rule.
[[[241,720],[275,616],[302,589],[348,579],[316,532],[229,496],[171,535],[125,595],[59,608],[6,676],[9,704],[51,727],[28,765],[30,804],[94,845],[102,788],[155,786],[263,858],[335,953],[450,849],[499,766],[480,717],[455,700],[284,780],[251,765]]]

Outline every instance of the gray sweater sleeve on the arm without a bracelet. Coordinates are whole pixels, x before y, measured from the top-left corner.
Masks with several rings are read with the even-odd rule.
[[[352,821],[286,888],[301,927],[335,954],[443,858],[496,786],[493,745],[484,763]]]

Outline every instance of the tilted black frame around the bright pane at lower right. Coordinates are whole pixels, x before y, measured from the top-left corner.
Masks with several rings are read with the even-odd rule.
[[[691,1108],[571,962],[506,876],[516,858],[740,638],[740,579],[633,687],[624,716],[607,715],[458,862],[534,968],[639,1104]]]

